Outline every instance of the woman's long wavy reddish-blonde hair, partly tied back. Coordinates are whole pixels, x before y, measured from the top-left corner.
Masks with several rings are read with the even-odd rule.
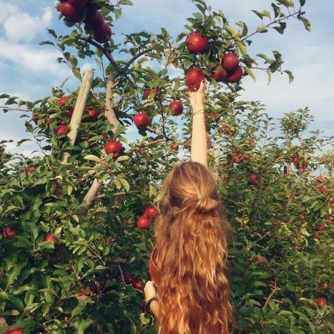
[[[214,175],[201,163],[176,165],[160,193],[156,221],[156,330],[179,334],[225,334],[235,327],[226,277],[228,223]]]

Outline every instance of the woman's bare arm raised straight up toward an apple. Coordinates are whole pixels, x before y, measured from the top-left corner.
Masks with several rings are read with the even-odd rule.
[[[196,92],[189,92],[192,107],[192,148],[191,160],[208,166],[208,147],[204,120],[205,81],[201,82]]]

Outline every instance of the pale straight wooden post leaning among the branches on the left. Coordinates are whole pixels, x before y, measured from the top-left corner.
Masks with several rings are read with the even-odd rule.
[[[78,99],[75,103],[72,118],[70,119],[70,132],[68,132],[68,139],[70,140],[70,146],[75,144],[75,140],[78,135],[78,128],[81,123],[82,115],[85,110],[87,97],[90,91],[90,85],[92,84],[94,73],[92,70],[87,70],[82,79]],[[67,159],[70,156],[68,152],[63,154],[61,163],[67,163]]]

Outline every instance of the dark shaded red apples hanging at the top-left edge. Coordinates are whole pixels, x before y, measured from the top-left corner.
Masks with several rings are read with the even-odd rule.
[[[101,11],[90,0],[60,0],[59,11],[73,23],[83,22],[94,31],[94,39],[106,43],[111,39],[111,27]]]

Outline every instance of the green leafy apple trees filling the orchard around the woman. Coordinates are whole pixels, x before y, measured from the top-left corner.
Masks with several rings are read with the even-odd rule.
[[[145,212],[178,161],[178,148],[189,158],[184,77],[199,68],[209,81],[209,163],[235,230],[228,267],[237,333],[333,331],[333,139],[307,132],[307,109],[287,113],[278,124],[259,101],[242,101],[242,80],[211,78],[223,54],[233,52],[244,75],[255,80],[261,70],[270,81],[273,73],[286,73],[291,81],[277,50],[252,55],[249,46],[264,32],[283,34],[288,18],[310,30],[305,1],[275,0],[270,10],[254,11],[261,21],[254,31],[242,21],[229,23],[203,0],[193,2],[198,11],[175,39],[161,28],[157,35],[134,32],[100,44],[81,23],[87,9],[80,9],[77,23],[60,16],[68,35],[49,30],[52,40],[41,44],[56,47],[58,63],[79,80],[83,59],[96,64],[74,146],[66,134],[78,90],[63,89],[66,80],[38,101],[0,95],[4,111],[20,110],[26,118],[39,152],[14,155],[5,151],[6,141],[0,144],[2,328],[154,333],[152,319],[142,314],[154,228],[154,215]],[[89,4],[113,29],[131,1]],[[194,32],[209,40],[204,53],[187,50],[185,39]],[[173,101],[184,106],[175,116]],[[128,129],[142,112],[150,122],[145,116],[145,126],[137,129],[140,139],[133,140]],[[124,150],[106,154],[111,141]],[[67,163],[61,162],[64,154]],[[142,216],[148,221],[138,223]]]

